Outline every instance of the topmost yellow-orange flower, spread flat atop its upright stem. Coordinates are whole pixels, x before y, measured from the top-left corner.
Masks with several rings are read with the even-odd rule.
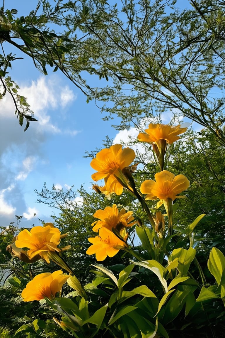
[[[138,139],[141,142],[157,143],[157,141],[164,139],[171,144],[179,140],[180,134],[185,132],[187,128],[181,128],[180,124],[177,126],[170,126],[169,124],[150,123],[145,132],[138,134]]]

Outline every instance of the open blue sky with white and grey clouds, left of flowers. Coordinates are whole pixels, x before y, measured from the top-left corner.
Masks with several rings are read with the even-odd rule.
[[[18,1],[6,0],[5,8],[17,8],[19,16],[26,15],[36,2],[22,0],[18,7]],[[10,51],[6,45],[3,47]],[[50,221],[54,213],[36,203],[35,189],[40,191],[45,182],[49,189],[53,184],[59,189],[72,185],[76,189],[84,184],[90,189],[93,169],[91,159],[82,157],[85,151],[100,148],[107,135],[119,143],[130,134],[136,137],[138,131],[131,128],[118,133],[111,123],[118,124],[119,120],[103,121],[94,101],[87,104],[85,95],[60,72],[50,70],[44,76],[27,57],[14,61],[12,67],[10,76],[27,97],[38,122],[32,122],[23,132],[11,98],[6,96],[0,101],[0,226],[22,215],[21,225],[29,227],[38,225],[38,218]],[[171,113],[164,119],[169,122]]]

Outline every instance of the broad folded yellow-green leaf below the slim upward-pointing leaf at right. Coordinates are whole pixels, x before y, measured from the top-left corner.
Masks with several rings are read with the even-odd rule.
[[[172,254],[169,256],[169,262],[172,262],[176,258],[178,258],[179,261],[179,264],[177,266],[178,271],[182,274],[187,274],[191,262],[195,258],[195,254],[196,250],[193,248],[189,248],[188,250],[182,248],[174,249],[172,251]]]

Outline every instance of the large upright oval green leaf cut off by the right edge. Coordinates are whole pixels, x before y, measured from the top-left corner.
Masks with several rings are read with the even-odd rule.
[[[225,257],[216,247],[210,251],[208,269],[215,277],[218,286],[225,284]]]

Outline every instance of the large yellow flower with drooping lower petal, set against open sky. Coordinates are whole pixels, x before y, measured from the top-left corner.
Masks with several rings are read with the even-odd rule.
[[[135,159],[135,152],[131,148],[122,149],[121,144],[114,144],[109,149],[105,148],[97,153],[96,158],[90,163],[96,173],[91,175],[94,181],[105,180],[106,190],[121,195],[123,185],[117,177],[126,182],[122,169],[128,167]]]

